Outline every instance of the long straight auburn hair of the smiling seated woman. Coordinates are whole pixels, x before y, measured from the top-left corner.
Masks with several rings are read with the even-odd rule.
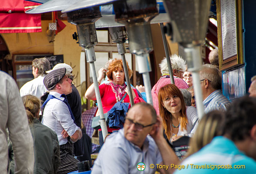
[[[174,96],[174,95],[177,95],[181,100],[181,110],[180,110],[181,116],[179,117],[181,131],[186,129],[186,126],[188,124],[186,106],[185,106],[184,98],[182,96],[182,92],[174,84],[167,84],[164,87],[161,87],[158,92],[158,105],[159,105],[160,116],[162,117],[163,125],[165,128],[165,134],[168,140],[172,137],[172,127],[171,127],[172,114],[167,109],[164,108],[163,101],[165,100],[166,96]]]

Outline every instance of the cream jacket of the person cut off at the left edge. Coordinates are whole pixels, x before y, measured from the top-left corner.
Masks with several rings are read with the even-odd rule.
[[[34,171],[34,143],[28,126],[27,114],[16,82],[0,71],[0,173],[7,174],[7,131],[13,143],[15,169],[20,174]]]

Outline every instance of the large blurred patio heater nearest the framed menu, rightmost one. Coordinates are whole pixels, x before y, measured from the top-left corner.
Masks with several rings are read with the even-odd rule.
[[[204,43],[211,0],[164,0],[171,23],[172,40],[184,48],[188,70],[192,71],[196,109],[199,119],[204,114],[199,70],[202,68],[200,46]]]

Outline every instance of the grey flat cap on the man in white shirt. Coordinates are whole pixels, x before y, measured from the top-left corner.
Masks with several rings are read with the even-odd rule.
[[[51,71],[44,77],[44,86],[47,90],[52,90],[55,85],[65,76],[66,68],[59,68],[57,70]]]

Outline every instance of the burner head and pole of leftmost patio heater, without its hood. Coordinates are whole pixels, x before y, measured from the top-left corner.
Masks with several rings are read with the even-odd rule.
[[[102,136],[104,139],[107,136],[108,131],[106,120],[104,118],[101,95],[94,65],[94,62],[96,61],[94,46],[98,43],[95,21],[98,20],[100,17],[101,12],[99,7],[88,7],[67,12],[67,21],[69,23],[75,24],[77,27],[77,33],[73,34],[73,38],[75,40],[79,39],[77,43],[79,43],[80,47],[84,48],[86,54],[86,61],[90,64],[95,95],[100,113],[99,123],[101,125]]]

